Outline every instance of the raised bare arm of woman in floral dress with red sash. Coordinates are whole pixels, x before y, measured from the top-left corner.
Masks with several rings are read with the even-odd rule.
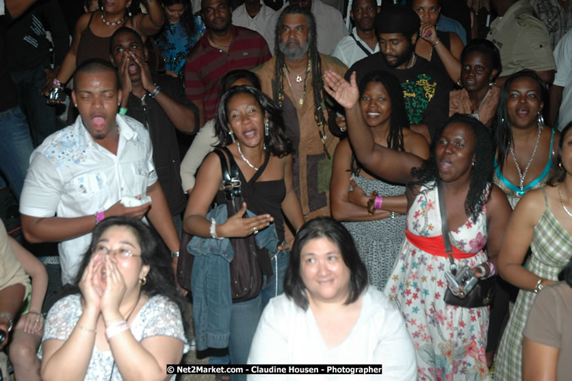
[[[359,162],[372,173],[391,182],[405,184],[411,180],[411,169],[420,167],[423,160],[412,153],[376,145],[358,105],[356,73],[352,73],[350,82],[347,82],[341,75],[328,71],[324,75],[324,82],[326,93],[346,109],[348,136]]]

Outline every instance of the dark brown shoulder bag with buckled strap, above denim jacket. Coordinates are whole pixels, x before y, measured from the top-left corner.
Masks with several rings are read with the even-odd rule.
[[[232,217],[236,214],[237,210],[242,208],[242,203],[244,202],[240,189],[241,182],[238,174],[238,166],[228,148],[215,149],[214,152],[220,159],[226,208],[228,217]],[[257,173],[255,173],[254,177],[252,177],[254,181],[262,174],[266,164],[268,164],[270,156],[268,150],[266,152],[267,156],[264,164],[259,168]],[[248,216],[245,213],[242,217],[246,218]],[[267,278],[272,275],[270,256],[268,250],[261,249],[257,246],[254,234],[229,239],[231,240],[234,251],[234,257],[230,264],[233,303],[245,302],[259,295],[262,289],[263,275],[267,275]]]

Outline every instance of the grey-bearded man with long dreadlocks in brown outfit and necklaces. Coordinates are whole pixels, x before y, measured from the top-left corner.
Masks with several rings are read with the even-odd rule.
[[[339,139],[328,128],[323,73],[346,73],[346,66],[317,51],[315,19],[299,5],[288,5],[276,23],[276,54],[255,69],[262,90],[284,110],[294,153],[294,187],[307,219],[330,215],[332,157]],[[335,115],[331,112],[331,115]],[[333,125],[333,131],[339,128]]]

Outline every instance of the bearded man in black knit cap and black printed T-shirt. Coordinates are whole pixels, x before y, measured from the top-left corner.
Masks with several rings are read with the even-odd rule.
[[[419,17],[410,7],[389,5],[375,20],[380,51],[359,60],[346,73],[356,72],[356,80],[371,71],[389,71],[403,87],[411,130],[431,141],[449,113],[449,79],[436,66],[415,54]]]

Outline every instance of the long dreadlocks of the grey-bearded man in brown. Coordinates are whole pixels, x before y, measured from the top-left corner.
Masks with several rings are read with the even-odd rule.
[[[312,86],[314,98],[314,119],[320,129],[320,137],[324,139],[326,136],[327,121],[324,117],[324,80],[322,79],[322,60],[320,60],[320,53],[317,51],[317,29],[316,22],[313,14],[306,8],[300,5],[288,5],[276,22],[276,29],[274,31],[274,56],[276,56],[276,68],[274,69],[274,79],[276,79],[276,86],[273,86],[273,98],[278,102],[278,106],[284,108],[284,69],[287,69],[284,60],[284,54],[280,51],[281,44],[281,29],[284,16],[287,14],[303,14],[306,16],[308,22],[308,40],[310,46],[308,49],[308,58],[311,60],[311,73],[312,73]]]

